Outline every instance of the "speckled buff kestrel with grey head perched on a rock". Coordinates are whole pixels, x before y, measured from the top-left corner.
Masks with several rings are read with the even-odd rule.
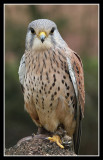
[[[28,25],[18,73],[25,109],[34,123],[53,133],[62,125],[78,154],[85,103],[83,65],[53,21],[38,19]]]

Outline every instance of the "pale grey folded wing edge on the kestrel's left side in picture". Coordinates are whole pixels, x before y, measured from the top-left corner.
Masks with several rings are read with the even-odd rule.
[[[23,56],[21,58],[18,74],[19,74],[19,81],[21,84],[21,89],[22,89],[22,92],[24,93],[25,54],[23,54]]]

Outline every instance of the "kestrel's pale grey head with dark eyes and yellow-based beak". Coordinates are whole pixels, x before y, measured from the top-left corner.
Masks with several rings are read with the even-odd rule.
[[[26,49],[45,50],[63,41],[56,24],[48,19],[38,19],[28,25]]]

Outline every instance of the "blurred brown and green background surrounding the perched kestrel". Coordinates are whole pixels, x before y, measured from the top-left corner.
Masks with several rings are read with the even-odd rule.
[[[18,68],[25,50],[28,24],[53,20],[69,47],[82,58],[85,116],[80,154],[98,154],[98,5],[5,5],[5,148],[37,128],[24,110]]]

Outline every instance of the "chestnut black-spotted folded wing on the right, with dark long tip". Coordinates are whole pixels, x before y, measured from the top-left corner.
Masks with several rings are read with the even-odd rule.
[[[81,137],[81,120],[84,116],[85,103],[83,65],[79,55],[75,52],[71,52],[71,54],[67,56],[67,64],[77,102],[75,106],[76,129],[73,135],[73,140],[74,150],[78,154]]]

